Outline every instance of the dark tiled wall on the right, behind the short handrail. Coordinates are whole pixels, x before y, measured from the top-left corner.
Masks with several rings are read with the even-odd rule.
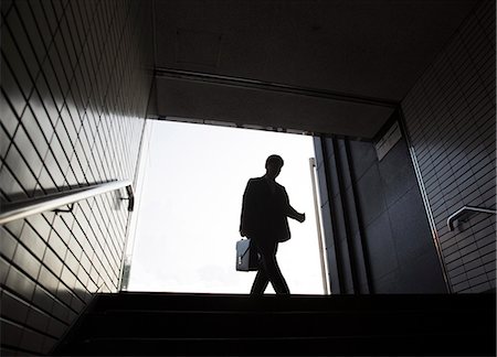
[[[495,215],[455,231],[464,205],[496,207],[495,1],[482,1],[402,101],[453,292],[495,289]]]

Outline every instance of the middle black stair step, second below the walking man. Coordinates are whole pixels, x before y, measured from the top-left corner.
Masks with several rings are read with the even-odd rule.
[[[434,333],[485,333],[491,327],[490,315],[384,312],[151,312],[109,311],[92,313],[81,327],[81,335],[95,337],[163,337],[163,336],[321,336],[347,334],[396,335]],[[463,324],[463,325],[462,325]],[[472,326],[467,331],[467,326]],[[213,328],[214,327],[214,328]]]

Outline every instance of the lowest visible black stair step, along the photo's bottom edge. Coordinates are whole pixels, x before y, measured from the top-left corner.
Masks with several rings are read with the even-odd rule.
[[[72,355],[114,356],[478,356],[495,346],[476,337],[441,339],[440,336],[341,336],[294,338],[113,338],[88,339],[73,346]]]

